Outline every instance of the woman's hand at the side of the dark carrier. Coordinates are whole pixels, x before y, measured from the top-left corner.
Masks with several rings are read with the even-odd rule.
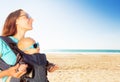
[[[19,70],[19,67],[21,68],[20,70]],[[22,75],[26,73],[26,68],[27,68],[27,64],[17,64],[13,67],[10,67],[7,70],[8,76],[20,78]]]

